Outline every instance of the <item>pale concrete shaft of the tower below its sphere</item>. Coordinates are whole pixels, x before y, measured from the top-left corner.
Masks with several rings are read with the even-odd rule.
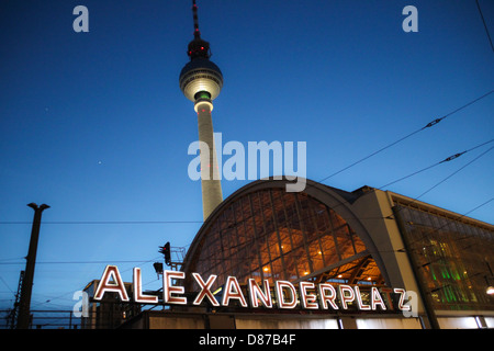
[[[222,184],[214,145],[213,120],[211,116],[213,104],[198,102],[199,141],[201,144],[201,188],[204,220],[223,201]]]

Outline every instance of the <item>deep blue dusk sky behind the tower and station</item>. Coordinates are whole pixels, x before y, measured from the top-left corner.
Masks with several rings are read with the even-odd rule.
[[[494,2],[479,1],[494,36]],[[76,5],[89,33],[76,33]],[[405,5],[418,32],[405,33]],[[494,52],[474,0],[199,0],[222,69],[223,141],[306,141],[307,178],[381,188],[494,138],[494,93],[326,179],[494,89]],[[191,244],[198,139],[178,77],[189,0],[3,0],[0,4],[0,309],[14,301],[33,210],[43,214],[33,309],[71,309],[106,263],[158,288],[158,246]],[[460,214],[494,197],[494,143],[385,190]],[[486,152],[486,154],[484,154]],[[458,173],[454,173],[457,172]],[[454,176],[448,178],[454,173]],[[224,197],[246,181],[223,181]],[[494,201],[469,216],[494,222]],[[167,223],[180,222],[180,223]],[[130,262],[124,262],[130,261]],[[98,263],[99,262],[99,263]]]

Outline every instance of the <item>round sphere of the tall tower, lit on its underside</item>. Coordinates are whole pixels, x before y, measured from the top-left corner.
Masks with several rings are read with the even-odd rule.
[[[210,100],[216,99],[222,87],[222,71],[207,58],[192,59],[180,72],[180,89],[186,98],[192,102],[204,99],[203,95],[199,94],[200,92],[207,92]]]

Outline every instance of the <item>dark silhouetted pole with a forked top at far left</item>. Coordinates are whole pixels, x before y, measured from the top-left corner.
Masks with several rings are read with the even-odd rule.
[[[31,318],[31,293],[33,291],[34,265],[36,263],[37,240],[40,238],[41,217],[48,205],[37,206],[31,203],[27,206],[34,210],[33,228],[31,229],[30,249],[26,256],[24,280],[22,282],[21,302],[19,304],[18,329],[29,329]]]

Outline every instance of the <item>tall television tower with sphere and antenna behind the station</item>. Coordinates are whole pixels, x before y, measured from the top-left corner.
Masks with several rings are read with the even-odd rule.
[[[210,60],[210,43],[201,38],[195,0],[192,1],[192,14],[194,38],[189,43],[187,52],[190,61],[180,72],[180,89],[186,98],[194,103],[194,110],[198,113],[202,208],[205,220],[223,201],[211,117],[213,100],[216,99],[223,87],[223,75],[220,68]]]

